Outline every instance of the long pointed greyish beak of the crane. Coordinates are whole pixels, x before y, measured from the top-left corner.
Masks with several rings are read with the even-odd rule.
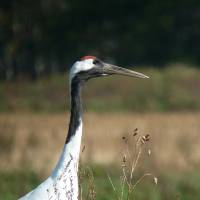
[[[138,77],[138,78],[149,78],[148,76],[140,72],[136,72],[133,70],[125,69],[125,68],[107,64],[107,63],[104,63],[103,72],[107,75],[120,74],[124,76],[132,76],[132,77]]]

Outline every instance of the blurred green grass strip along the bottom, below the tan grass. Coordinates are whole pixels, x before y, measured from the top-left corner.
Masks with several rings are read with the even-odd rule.
[[[108,170],[102,166],[91,167],[94,176],[94,191],[96,200],[116,199],[116,195],[107,178],[106,171],[111,172],[111,178],[116,186],[117,192],[120,192],[120,173],[113,167],[108,167]],[[111,170],[112,169],[112,170]],[[40,178],[31,171],[0,171],[0,199],[13,200],[20,195],[30,191],[40,183]],[[150,178],[144,179],[134,190],[131,199],[139,200],[198,200],[200,196],[200,173],[165,173],[158,175],[158,184],[155,185]],[[89,178],[86,176],[82,183],[84,197],[88,194]],[[86,200],[86,198],[83,198]],[[92,199],[92,198],[88,198]]]

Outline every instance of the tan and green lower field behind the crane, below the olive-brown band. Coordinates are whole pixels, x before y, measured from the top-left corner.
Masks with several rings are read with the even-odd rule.
[[[92,168],[97,199],[115,199],[106,171],[112,173],[116,169],[112,177],[116,185],[119,184],[118,169],[124,150],[122,137],[135,128],[139,134],[151,136],[137,171],[152,172],[159,178],[156,187],[151,180],[144,181],[135,192],[137,199],[198,199],[199,122],[200,113],[190,112],[86,113],[82,142],[85,150],[81,160],[84,166],[88,165],[86,162],[95,163]],[[62,150],[67,127],[68,114],[0,115],[0,193],[4,194],[3,199],[15,199],[15,195],[30,190],[50,173]],[[131,143],[129,147],[132,148]],[[151,156],[147,155],[148,149]]]

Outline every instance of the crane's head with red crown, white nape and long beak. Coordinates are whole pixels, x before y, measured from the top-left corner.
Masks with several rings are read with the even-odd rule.
[[[95,56],[84,56],[72,66],[70,80],[76,77],[81,81],[87,81],[91,78],[113,74],[149,78],[142,73],[105,63]]]

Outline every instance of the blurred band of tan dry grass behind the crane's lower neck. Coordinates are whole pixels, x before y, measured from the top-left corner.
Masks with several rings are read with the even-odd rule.
[[[83,161],[120,162],[121,138],[137,127],[142,134],[151,134],[150,168],[190,170],[199,164],[200,113],[87,113],[84,122]],[[0,168],[31,166],[49,174],[59,158],[67,128],[66,114],[1,114]],[[141,169],[143,165],[145,162]]]

